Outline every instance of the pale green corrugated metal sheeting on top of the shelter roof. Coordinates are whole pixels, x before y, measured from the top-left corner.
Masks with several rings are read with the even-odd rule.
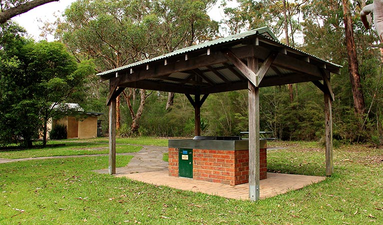
[[[230,35],[230,36],[227,36],[227,37],[222,37],[222,38],[218,38],[218,39],[215,39],[215,40],[207,41],[207,42],[204,42],[204,43],[201,43],[201,44],[197,44],[197,45],[181,48],[181,49],[178,49],[178,50],[172,51],[170,53],[163,54],[163,55],[151,58],[151,59],[141,60],[141,61],[138,61],[138,62],[134,62],[134,63],[128,64],[128,65],[125,65],[125,66],[114,68],[114,69],[111,69],[111,70],[108,70],[108,71],[105,71],[105,72],[100,72],[97,75],[101,76],[101,75],[105,75],[105,74],[112,74],[112,73],[118,72],[120,70],[124,70],[124,69],[127,69],[127,68],[132,68],[132,67],[137,66],[137,65],[146,64],[146,63],[149,63],[149,62],[152,62],[152,61],[156,61],[156,60],[166,59],[166,58],[169,58],[169,57],[172,57],[172,56],[175,56],[175,55],[184,54],[184,53],[191,52],[191,51],[194,51],[194,50],[211,47],[211,46],[214,46],[214,45],[217,45],[217,44],[222,44],[222,43],[227,43],[227,42],[231,42],[231,41],[234,41],[234,40],[244,39],[244,38],[247,38],[249,36],[256,35],[256,34],[262,35],[263,37],[265,37],[267,39],[270,39],[271,42],[274,42],[276,44],[280,44],[280,45],[282,45],[282,46],[284,46],[286,48],[293,49],[293,50],[298,51],[298,52],[300,52],[300,53],[302,53],[304,55],[311,56],[312,58],[315,58],[317,60],[329,63],[329,64],[331,64],[331,65],[333,65],[335,67],[342,67],[341,65],[332,63],[332,62],[327,61],[327,60],[324,60],[324,59],[319,58],[319,57],[317,57],[315,55],[312,55],[312,54],[309,54],[307,52],[304,52],[304,51],[302,51],[302,50],[300,50],[298,48],[291,47],[291,46],[289,46],[289,45],[287,45],[285,43],[280,42],[277,39],[277,37],[274,35],[274,33],[267,26],[264,26],[264,27],[252,29],[252,30],[249,30],[249,31],[246,31],[246,32],[242,32],[242,33],[239,33],[239,34]]]

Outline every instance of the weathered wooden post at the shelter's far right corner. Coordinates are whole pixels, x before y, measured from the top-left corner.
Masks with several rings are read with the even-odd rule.
[[[329,93],[325,92],[325,136],[326,136],[326,175],[334,172],[333,162],[333,115],[332,100]]]

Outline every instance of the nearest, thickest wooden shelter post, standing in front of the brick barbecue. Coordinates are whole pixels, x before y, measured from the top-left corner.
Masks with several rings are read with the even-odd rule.
[[[258,59],[248,58],[249,68],[258,71]],[[249,198],[259,199],[259,88],[250,80],[249,87]]]

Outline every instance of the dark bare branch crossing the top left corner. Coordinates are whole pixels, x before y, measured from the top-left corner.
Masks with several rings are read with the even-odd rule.
[[[37,6],[40,6],[42,4],[52,2],[52,1],[58,1],[58,0],[32,0],[28,1],[19,5],[16,5],[14,7],[11,7],[9,9],[6,9],[4,11],[0,12],[0,23],[6,22],[6,20],[19,15],[21,13],[27,12],[32,8],[35,8]]]

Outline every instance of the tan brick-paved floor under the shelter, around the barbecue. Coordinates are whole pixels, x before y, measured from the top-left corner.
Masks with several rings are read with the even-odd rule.
[[[166,185],[182,190],[198,191],[228,198],[249,199],[249,184],[244,183],[236,186],[213,183],[191,178],[173,177],[168,175],[168,170],[157,170],[139,173],[120,173],[116,176],[129,177],[146,183]],[[260,181],[260,198],[275,196],[289,190],[300,189],[311,183],[324,180],[322,176],[294,175],[283,173],[267,173],[267,179]]]

